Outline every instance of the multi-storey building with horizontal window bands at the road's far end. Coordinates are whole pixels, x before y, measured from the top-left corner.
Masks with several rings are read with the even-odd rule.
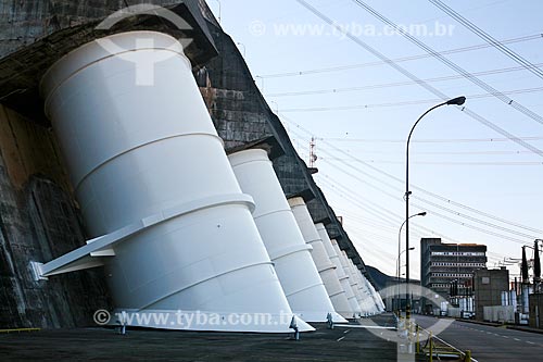
[[[420,239],[420,285],[445,299],[472,295],[473,272],[487,267],[487,246]],[[425,310],[426,310],[425,304]]]

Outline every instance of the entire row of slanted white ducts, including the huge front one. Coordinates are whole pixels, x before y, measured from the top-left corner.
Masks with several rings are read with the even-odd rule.
[[[313,329],[304,321],[378,313],[378,294],[303,200],[286,200],[266,152],[227,158],[191,71],[176,39],[130,32],[47,72],[46,114],[93,238],[49,264],[100,260],[116,313],[172,316],[131,321],[148,327],[287,332],[295,322],[303,332]],[[219,317],[189,324],[197,311]],[[270,319],[222,323],[232,313]]]

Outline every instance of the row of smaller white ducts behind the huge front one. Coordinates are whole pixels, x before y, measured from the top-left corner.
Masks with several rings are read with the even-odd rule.
[[[302,198],[287,201],[267,152],[245,150],[229,159],[241,189],[255,200],[256,226],[292,310],[308,322],[324,321],[331,307],[348,319],[379,313],[378,294],[354,264],[346,274],[343,264],[352,261],[343,260],[325,225],[313,223]]]

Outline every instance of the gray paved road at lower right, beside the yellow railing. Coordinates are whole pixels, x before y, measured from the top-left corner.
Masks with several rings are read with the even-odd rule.
[[[422,315],[415,319],[425,328],[438,321]],[[471,350],[479,362],[543,361],[540,334],[455,321],[439,337],[460,350]]]

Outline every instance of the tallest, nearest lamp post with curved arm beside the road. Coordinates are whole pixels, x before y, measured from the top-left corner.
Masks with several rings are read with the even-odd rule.
[[[417,122],[413,125],[409,132],[409,136],[407,137],[407,143],[405,147],[405,249],[409,249],[409,141],[411,141],[411,136],[413,135],[413,130],[415,130],[415,127],[417,124],[422,120],[425,115],[430,113],[437,108],[440,108],[442,105],[462,105],[466,102],[466,97],[457,97],[454,99],[451,99],[446,102],[433,105],[429,110],[427,110],[425,113],[422,113],[421,116],[418,117]],[[405,297],[406,297],[406,305],[405,305],[405,316],[406,319],[411,319],[411,301],[409,301],[409,253],[406,253],[405,255],[405,262],[407,264],[406,271],[405,271]]]

